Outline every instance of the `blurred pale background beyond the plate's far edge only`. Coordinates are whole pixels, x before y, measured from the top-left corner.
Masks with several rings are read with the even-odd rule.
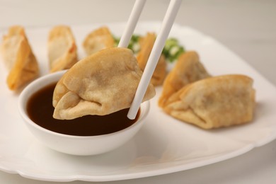
[[[162,21],[169,0],[148,0],[140,21]],[[127,21],[134,0],[0,0],[0,30]],[[270,81],[276,67],[275,0],[183,0],[176,23],[212,36]],[[263,64],[265,62],[265,69]]]

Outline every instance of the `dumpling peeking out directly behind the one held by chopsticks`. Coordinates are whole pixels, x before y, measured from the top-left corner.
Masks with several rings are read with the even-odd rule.
[[[115,42],[113,35],[107,27],[93,30],[93,32],[86,36],[83,43],[84,50],[88,55],[108,47],[114,47],[114,45]]]

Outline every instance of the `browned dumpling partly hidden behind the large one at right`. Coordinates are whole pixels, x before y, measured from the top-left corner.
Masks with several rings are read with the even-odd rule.
[[[159,106],[163,107],[166,105],[168,98],[180,90],[180,88],[183,88],[183,86],[209,76],[205,67],[200,62],[197,52],[190,51],[181,54],[175,67],[173,67],[163,82]]]

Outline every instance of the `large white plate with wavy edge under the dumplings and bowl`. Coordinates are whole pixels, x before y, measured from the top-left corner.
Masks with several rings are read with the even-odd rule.
[[[84,57],[81,42],[100,25],[120,35],[124,23],[72,27]],[[144,22],[136,33],[158,33],[160,23]],[[47,73],[47,33],[50,28],[26,30],[42,74]],[[3,34],[3,33],[1,33]],[[276,88],[240,57],[192,28],[174,25],[171,37],[187,50],[199,52],[212,75],[246,74],[254,79],[257,106],[254,121],[219,130],[201,130],[166,115],[156,105],[161,88],[151,100],[151,110],[142,130],[124,146],[98,156],[71,156],[42,146],[26,129],[18,110],[18,94],[8,91],[6,71],[0,69],[0,170],[26,178],[52,181],[107,181],[156,176],[223,161],[271,142],[276,137]],[[110,142],[112,144],[112,142]]]

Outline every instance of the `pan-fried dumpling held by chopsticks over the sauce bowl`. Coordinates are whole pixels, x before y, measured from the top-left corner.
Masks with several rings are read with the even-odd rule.
[[[142,76],[131,50],[110,47],[82,59],[62,76],[54,89],[56,119],[107,115],[130,108]],[[143,100],[154,97],[149,84]]]

